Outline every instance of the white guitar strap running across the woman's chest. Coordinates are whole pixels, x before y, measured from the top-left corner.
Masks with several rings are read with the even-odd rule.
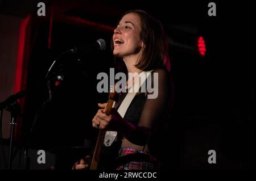
[[[151,70],[151,71],[153,71],[153,70]],[[117,110],[119,115],[121,115],[122,117],[125,116],[125,113],[131,104],[131,101],[133,100],[133,98],[135,97],[135,95],[137,94],[137,92],[139,91],[141,86],[145,83],[148,76],[151,75],[151,71],[142,71],[141,73],[139,73],[137,75],[137,77],[134,78],[134,86],[131,86],[129,88],[127,95],[125,96],[125,99],[123,99],[123,102],[121,103],[121,105],[119,106],[119,108]],[[144,76],[141,74],[144,74]],[[141,81],[139,78],[141,78]],[[114,104],[113,104],[113,107],[114,107]],[[105,146],[110,146],[113,144],[113,142],[116,140],[116,138],[117,138],[116,131],[106,131],[103,144]]]

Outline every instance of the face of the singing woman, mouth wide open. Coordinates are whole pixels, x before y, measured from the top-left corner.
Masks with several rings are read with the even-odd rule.
[[[138,54],[143,47],[140,33],[141,18],[139,15],[131,12],[123,16],[114,30],[113,54],[120,58]]]

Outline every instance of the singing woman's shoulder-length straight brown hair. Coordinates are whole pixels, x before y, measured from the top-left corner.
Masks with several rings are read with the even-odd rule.
[[[170,60],[168,46],[164,35],[162,24],[143,10],[129,10],[125,12],[120,20],[129,13],[136,13],[141,18],[141,40],[144,50],[139,57],[136,68],[148,71],[157,68],[163,68],[170,71]],[[113,48],[113,41],[112,41]]]

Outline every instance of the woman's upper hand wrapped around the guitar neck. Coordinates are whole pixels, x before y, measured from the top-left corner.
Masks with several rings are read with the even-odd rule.
[[[94,128],[105,129],[106,127],[108,127],[110,120],[112,120],[112,116],[111,115],[108,116],[104,113],[104,108],[106,106],[106,103],[104,104],[98,103],[98,106],[101,109],[98,110],[96,115],[93,117],[92,125]]]

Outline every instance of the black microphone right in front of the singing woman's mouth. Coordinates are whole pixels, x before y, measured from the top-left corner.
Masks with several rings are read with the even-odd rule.
[[[77,48],[74,47],[72,49],[69,49],[68,52],[69,53],[80,53],[80,51],[92,51],[92,50],[105,50],[106,49],[106,40],[104,39],[98,39],[97,41],[95,41],[92,45],[87,45],[85,47],[81,47],[81,48]]]

